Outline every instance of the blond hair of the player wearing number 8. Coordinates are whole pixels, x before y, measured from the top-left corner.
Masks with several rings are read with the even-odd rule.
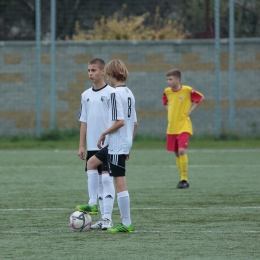
[[[122,82],[125,82],[129,75],[126,65],[121,60],[111,60],[105,66],[105,73]]]

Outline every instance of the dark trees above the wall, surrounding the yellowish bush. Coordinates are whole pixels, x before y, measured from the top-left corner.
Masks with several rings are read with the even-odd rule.
[[[235,1],[235,37],[260,37],[260,0]],[[144,26],[153,24],[156,7],[160,18],[181,23],[191,38],[214,32],[214,0],[56,0],[57,39],[75,35],[75,22],[87,32],[101,17],[107,19],[127,5],[126,17],[149,13]],[[220,35],[228,37],[229,1],[220,1]],[[41,1],[42,38],[50,33],[50,0]],[[0,40],[35,39],[35,0],[0,0]]]

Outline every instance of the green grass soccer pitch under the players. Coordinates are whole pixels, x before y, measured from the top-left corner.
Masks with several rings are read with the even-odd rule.
[[[133,149],[135,232],[77,233],[69,216],[88,199],[77,151],[0,150],[0,259],[260,259],[260,150],[188,156],[190,188],[178,190],[174,154]]]

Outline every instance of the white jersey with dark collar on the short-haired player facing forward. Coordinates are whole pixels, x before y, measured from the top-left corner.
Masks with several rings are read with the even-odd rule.
[[[110,94],[114,88],[105,85],[95,90],[93,87],[84,91],[81,95],[81,108],[79,121],[87,123],[87,151],[97,151],[97,141],[108,128],[108,111],[110,105]],[[107,144],[105,140],[105,145]]]

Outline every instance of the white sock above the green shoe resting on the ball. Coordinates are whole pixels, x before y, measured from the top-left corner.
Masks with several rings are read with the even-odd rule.
[[[98,195],[98,171],[88,170],[88,195],[89,195],[89,206],[94,206],[97,204]]]

